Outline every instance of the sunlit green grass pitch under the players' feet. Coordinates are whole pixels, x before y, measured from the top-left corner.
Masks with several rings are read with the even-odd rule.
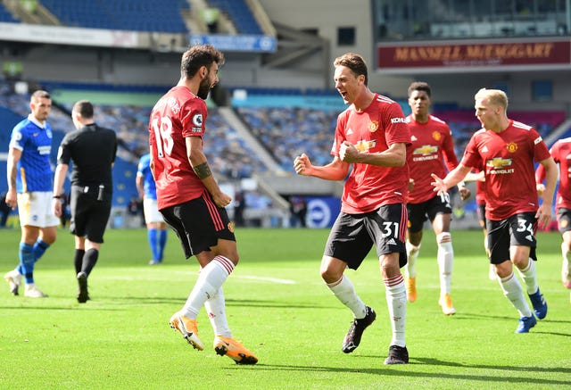
[[[571,386],[571,303],[560,282],[559,233],[540,233],[538,276],[546,319],[516,335],[517,311],[488,279],[480,231],[453,231],[452,298],[437,304],[434,233],[418,258],[418,300],[408,305],[410,364],[384,366],[391,337],[385,287],[371,253],[347,274],[377,311],[360,347],[341,352],[351,313],[319,277],[324,229],[239,229],[241,260],[224,285],[236,339],[260,359],[239,366],[214,353],[201,311],[193,350],[170,329],[197,277],[170,232],[166,259],[147,265],[144,229],[108,230],[89,280],[92,301],[75,300],[72,236],[37,263],[49,298],[12,296],[0,280],[0,388],[3,389],[561,389]],[[0,230],[0,272],[12,270],[20,231]]]

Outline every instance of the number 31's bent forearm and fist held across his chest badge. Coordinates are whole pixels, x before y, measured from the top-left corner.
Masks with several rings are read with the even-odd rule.
[[[343,162],[360,162],[380,167],[401,167],[407,162],[407,145],[403,142],[391,144],[379,153],[362,153],[352,143],[344,141],[339,148],[339,158]]]

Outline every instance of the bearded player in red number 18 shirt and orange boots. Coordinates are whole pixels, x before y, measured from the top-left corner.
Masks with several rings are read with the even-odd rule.
[[[220,190],[203,153],[204,99],[218,83],[223,62],[224,55],[211,45],[192,46],[182,55],[177,86],[151,112],[151,170],[164,220],[177,233],[186,258],[194,255],[202,268],[184,307],[170,318],[170,327],[202,351],[196,317],[204,305],[216,353],[239,364],[255,364],[258,358],[232,338],[226,319],[222,284],[238,263],[234,225],[224,208],[232,199]]]

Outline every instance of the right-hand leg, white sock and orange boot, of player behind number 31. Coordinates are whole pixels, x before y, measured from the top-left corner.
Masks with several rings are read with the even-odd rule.
[[[450,213],[438,213],[432,222],[434,234],[436,236],[436,245],[438,246],[436,254],[438,273],[440,276],[440,298],[438,303],[442,307],[443,313],[446,315],[456,313],[451,299],[454,249],[452,247],[452,236],[450,234],[450,222]]]

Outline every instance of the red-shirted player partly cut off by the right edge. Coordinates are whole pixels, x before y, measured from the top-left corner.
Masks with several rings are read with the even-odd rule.
[[[561,254],[563,263],[561,267],[561,282],[563,286],[571,289],[571,137],[559,139],[550,149],[551,157],[559,163],[559,188],[556,195],[555,207],[559,231],[563,236]],[[545,169],[540,165],[535,171],[538,193],[542,195],[543,202],[550,202],[549,193],[545,191]]]

